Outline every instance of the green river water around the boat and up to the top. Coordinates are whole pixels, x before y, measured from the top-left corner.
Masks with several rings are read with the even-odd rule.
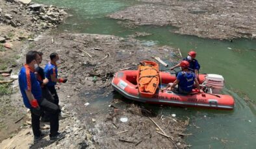
[[[235,98],[233,111],[166,107],[162,113],[186,119],[190,126],[186,137],[191,148],[255,148],[256,145],[256,40],[207,40],[195,36],[173,34],[173,27],[142,26],[127,29],[118,21],[105,17],[136,1],[127,0],[36,0],[38,3],[70,8],[72,17],[60,25],[57,32],[111,34],[126,37],[134,32],[148,32],[150,36],[136,38],[147,46],[170,45],[181,49],[183,56],[196,49],[201,73],[214,73],[225,78],[224,93]],[[164,58],[163,58],[164,59]],[[167,59],[167,58],[166,58]],[[251,100],[246,103],[244,98]],[[104,100],[103,100],[104,101]],[[99,104],[100,105],[100,104]],[[156,109],[156,111],[161,110]]]

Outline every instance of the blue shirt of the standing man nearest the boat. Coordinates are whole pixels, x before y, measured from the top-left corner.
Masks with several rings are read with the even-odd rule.
[[[58,69],[56,65],[53,65],[51,62],[47,63],[44,67],[44,74],[45,78],[48,78],[49,80],[47,86],[55,86],[57,84],[57,82],[51,81],[51,75],[55,76],[55,78],[58,78]]]

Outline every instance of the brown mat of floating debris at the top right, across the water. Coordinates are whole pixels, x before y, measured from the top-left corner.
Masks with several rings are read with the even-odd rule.
[[[140,0],[142,4],[110,14],[125,26],[172,25],[179,34],[231,40],[256,37],[256,2]]]

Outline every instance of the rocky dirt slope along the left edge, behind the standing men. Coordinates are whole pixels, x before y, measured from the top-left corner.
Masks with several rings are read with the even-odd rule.
[[[10,76],[0,75],[1,81],[17,78],[23,63],[19,60],[25,54],[23,46],[29,47],[34,36],[57,27],[67,16],[64,10],[55,6],[40,5],[41,10],[32,10],[29,5],[0,1],[0,71],[12,69]],[[5,47],[6,44],[10,49]],[[13,84],[0,84],[0,141],[23,128],[27,109],[21,106],[21,102],[17,80]]]

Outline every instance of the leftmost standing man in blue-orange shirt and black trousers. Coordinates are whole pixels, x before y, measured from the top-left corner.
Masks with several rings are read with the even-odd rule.
[[[26,54],[26,64],[21,67],[21,71],[19,72],[19,89],[25,106],[31,109],[34,141],[42,139],[45,135],[40,131],[40,115],[42,111],[51,113],[50,139],[59,140],[64,137],[64,133],[58,133],[58,113],[60,109],[56,104],[42,98],[42,89],[34,74],[36,67],[38,67],[38,61],[40,61],[38,52],[29,51]]]

